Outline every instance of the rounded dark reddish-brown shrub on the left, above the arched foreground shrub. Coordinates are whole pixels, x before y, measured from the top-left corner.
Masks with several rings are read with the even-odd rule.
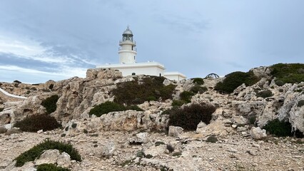
[[[25,132],[37,132],[38,130],[54,130],[59,128],[60,124],[50,115],[30,115],[24,120],[16,122],[14,125]]]

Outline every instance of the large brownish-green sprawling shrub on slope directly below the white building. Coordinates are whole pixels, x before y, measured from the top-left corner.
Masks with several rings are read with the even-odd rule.
[[[142,80],[119,83],[113,90],[114,102],[126,105],[138,105],[147,100],[171,99],[176,86],[163,85],[166,78],[149,76]]]

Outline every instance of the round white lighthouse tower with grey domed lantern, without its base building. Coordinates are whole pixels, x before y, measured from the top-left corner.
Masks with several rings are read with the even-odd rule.
[[[135,63],[135,57],[136,57],[136,41],[133,41],[133,33],[132,31],[127,27],[126,31],[123,31],[123,38],[121,41],[119,41],[119,62],[120,63]]]

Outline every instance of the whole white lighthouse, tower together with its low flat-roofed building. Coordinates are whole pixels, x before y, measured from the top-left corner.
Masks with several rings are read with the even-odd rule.
[[[123,31],[123,38],[119,41],[119,63],[96,66],[97,68],[113,68],[121,71],[123,76],[148,75],[164,76],[169,80],[181,81],[186,76],[179,72],[165,72],[165,66],[157,62],[136,63],[136,41],[133,41],[133,33],[129,28]]]

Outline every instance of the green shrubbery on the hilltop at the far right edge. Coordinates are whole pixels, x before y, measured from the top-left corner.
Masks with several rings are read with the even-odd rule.
[[[283,83],[300,83],[304,81],[303,63],[278,63],[270,66],[271,75]]]

